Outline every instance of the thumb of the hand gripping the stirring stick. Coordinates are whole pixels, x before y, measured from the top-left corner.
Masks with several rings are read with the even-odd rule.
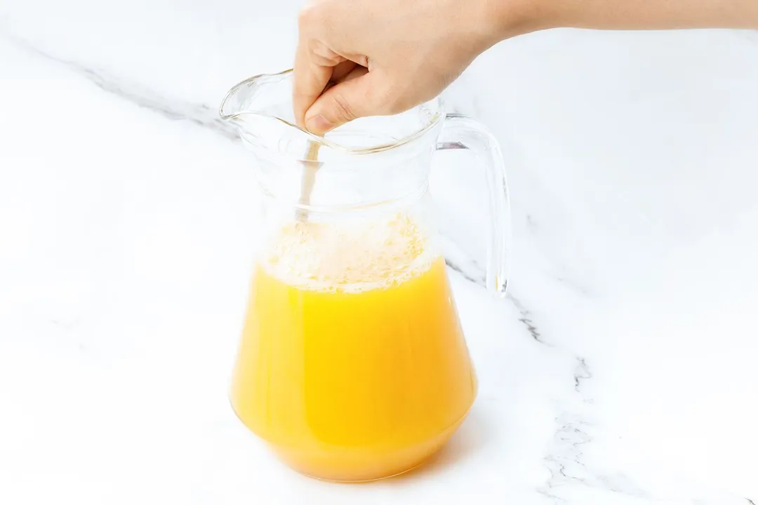
[[[323,135],[359,117],[381,115],[384,112],[380,98],[382,83],[377,74],[368,72],[327,89],[305,113],[305,127]]]

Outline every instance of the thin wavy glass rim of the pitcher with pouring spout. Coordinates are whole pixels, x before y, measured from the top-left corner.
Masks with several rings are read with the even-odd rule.
[[[238,117],[243,114],[255,114],[257,116],[268,117],[268,118],[280,121],[280,123],[284,123],[287,126],[292,126],[295,129],[299,129],[301,132],[305,133],[305,135],[309,137],[311,142],[316,142],[318,144],[325,145],[328,148],[336,149],[337,151],[342,151],[343,153],[346,153],[346,154],[373,154],[377,152],[390,151],[391,149],[394,149],[394,148],[399,148],[402,145],[409,144],[410,142],[413,142],[419,137],[424,136],[424,134],[426,134],[430,129],[433,129],[434,126],[437,126],[437,123],[440,123],[440,120],[442,120],[445,117],[444,101],[442,97],[438,96],[437,98],[432,98],[431,100],[424,102],[425,104],[428,104],[428,103],[437,104],[437,111],[435,112],[434,117],[432,117],[431,120],[425,123],[424,126],[421,126],[421,128],[415,130],[415,132],[412,132],[409,135],[402,137],[402,139],[398,139],[394,142],[386,142],[384,144],[373,145],[369,148],[347,148],[343,145],[337,144],[336,142],[331,142],[330,140],[325,139],[322,136],[315,135],[315,133],[309,132],[307,129],[301,128],[300,126],[290,123],[287,120],[283,120],[281,117],[271,116],[269,114],[262,114],[255,111],[237,111],[231,114],[224,114],[224,105],[227,104],[227,101],[229,101],[232,95],[234,95],[234,93],[238,89],[240,89],[241,86],[245,86],[246,84],[252,83],[253,81],[257,79],[262,79],[264,77],[285,76],[288,73],[293,73],[293,70],[294,69],[290,68],[290,69],[283,70],[282,72],[277,72],[277,73],[259,73],[258,75],[248,77],[247,79],[243,79],[239,83],[236,83],[227,92],[226,96],[224,96],[224,100],[221,101],[221,106],[218,108],[218,115],[221,117],[222,120],[231,120],[234,117]],[[423,105],[423,104],[420,104],[420,105]],[[420,105],[417,105],[416,107],[419,107]]]

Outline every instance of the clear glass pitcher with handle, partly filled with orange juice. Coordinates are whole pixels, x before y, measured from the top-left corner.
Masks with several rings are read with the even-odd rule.
[[[489,182],[487,285],[504,295],[509,202],[500,148],[437,98],[314,136],[292,73],[230,90],[221,117],[255,154],[262,193],[233,372],[236,415],[306,475],[406,472],[453,435],[477,390],[429,214],[437,151],[470,149]]]

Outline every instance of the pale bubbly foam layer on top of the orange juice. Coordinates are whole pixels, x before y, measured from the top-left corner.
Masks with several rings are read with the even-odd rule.
[[[289,223],[261,263],[297,288],[360,292],[398,285],[424,273],[436,257],[428,234],[397,214],[371,223]]]

